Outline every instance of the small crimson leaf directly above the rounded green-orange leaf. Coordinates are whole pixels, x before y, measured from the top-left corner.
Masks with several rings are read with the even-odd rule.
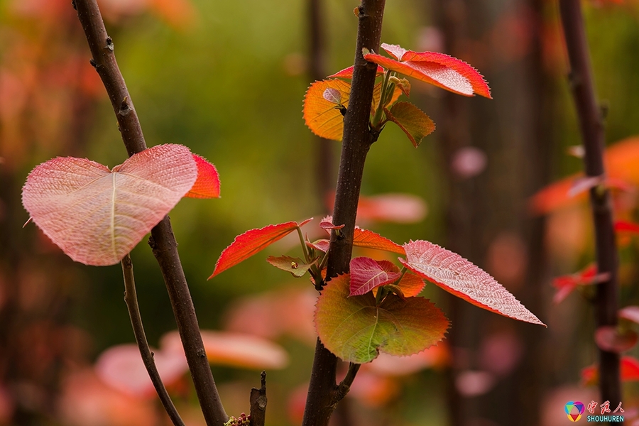
[[[352,258],[349,296],[363,295],[380,285],[393,283],[400,275],[399,268],[389,261],[376,261],[368,257]]]

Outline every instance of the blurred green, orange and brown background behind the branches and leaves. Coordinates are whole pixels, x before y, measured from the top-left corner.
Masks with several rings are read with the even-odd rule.
[[[105,390],[90,369],[104,350],[133,342],[119,266],[73,263],[35,226],[21,228],[28,219],[21,185],[35,165],[75,155],[112,167],[126,156],[69,3],[0,0],[0,425],[158,425],[152,397]],[[317,141],[301,114],[310,83],[308,5],[99,4],[148,145],[184,144],[220,173],[220,200],[182,200],[170,214],[200,326],[251,332],[265,318],[290,322],[280,324],[282,332],[261,332],[289,359],[286,368],[269,371],[267,420],[299,423],[313,337],[309,324],[298,323],[312,307],[312,287],[264,262],[267,254],[290,254],[293,243],[207,277],[234,236],[327,211],[317,194]],[[327,74],[352,64],[358,4],[322,3]],[[639,3],[584,6],[608,141],[639,134]],[[551,0],[387,2],[384,42],[467,60],[485,75],[494,99],[451,101],[414,82],[411,99],[437,130],[415,150],[389,125],[368,155],[362,193],[420,197],[427,215],[417,223],[366,226],[398,243],[428,239],[458,251],[549,328],[531,331],[530,324],[478,313],[428,285],[426,297],[453,320],[450,342],[422,357],[413,376],[363,369],[360,391],[354,388],[336,424],[561,425],[568,400],[596,400],[595,388],[579,387],[579,371],[596,354],[590,308],[576,295],[552,305],[550,285],[593,258],[588,214],[583,204],[563,209],[543,228],[527,207],[542,186],[581,168],[566,154],[579,133],[556,9]],[[337,163],[339,143],[333,148]],[[636,251],[630,243],[623,252],[622,305],[639,302]],[[139,244],[132,257],[148,339],[159,346],[175,328],[168,297],[148,246]],[[258,314],[256,307],[274,311]],[[248,410],[258,373],[213,364],[229,414]],[[391,362],[391,371],[398,368]],[[98,388],[94,405],[79,402]],[[182,378],[172,392],[192,417],[187,422],[200,425],[189,389]],[[624,407],[637,407],[637,389],[626,395]]]

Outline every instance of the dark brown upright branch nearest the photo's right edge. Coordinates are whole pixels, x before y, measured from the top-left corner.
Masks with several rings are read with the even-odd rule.
[[[603,176],[606,173],[603,166],[603,117],[595,97],[581,4],[579,0],[561,0],[559,9],[570,60],[572,94],[584,141],[586,175]],[[610,274],[609,280],[597,285],[597,297],[594,301],[596,326],[614,326],[617,324],[618,310],[618,255],[610,192],[603,186],[591,188],[590,202],[595,228],[597,269],[599,273]],[[599,390],[601,398],[609,400],[611,405],[621,401],[619,372],[619,355],[599,349]]]

